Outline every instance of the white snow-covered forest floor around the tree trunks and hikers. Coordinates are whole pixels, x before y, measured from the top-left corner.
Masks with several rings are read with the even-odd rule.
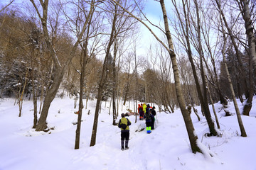
[[[121,151],[120,130],[112,125],[112,115],[108,114],[109,108],[104,105],[102,103],[96,145],[90,147],[95,101],[89,101],[88,109],[84,109],[82,115],[80,149],[75,150],[76,125],[73,123],[77,121],[74,114],[77,109],[74,109],[73,99],[55,98],[47,120],[48,127],[54,127],[54,130],[35,132],[31,129],[33,103],[24,101],[23,113],[19,118],[14,99],[4,98],[0,101],[0,169],[256,170],[256,102],[250,117],[242,115],[248,137],[240,137],[236,115],[225,117],[218,103],[215,110],[222,137],[205,137],[204,134],[208,132],[206,119],[201,116],[198,122],[196,115],[191,114],[198,139],[215,154],[214,157],[191,152],[179,110],[173,114],[157,112],[156,129],[149,135],[146,130],[138,131],[145,128],[144,121],[134,123],[135,117],[129,116],[132,122],[130,149]],[[87,115],[88,110],[90,115]],[[235,113],[233,103],[229,103],[228,110]],[[125,108],[123,112],[126,112]]]

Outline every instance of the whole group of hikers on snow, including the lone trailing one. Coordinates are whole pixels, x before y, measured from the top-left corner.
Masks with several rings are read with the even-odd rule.
[[[139,120],[146,120],[146,132],[149,134],[151,130],[154,130],[154,122],[155,122],[155,107],[146,105],[146,103],[139,104],[138,106]],[[121,128],[121,149],[129,149],[129,125],[131,125],[131,121],[128,118],[125,118],[125,114],[121,114],[122,118],[119,120],[118,128]],[[125,147],[124,147],[125,140]]]

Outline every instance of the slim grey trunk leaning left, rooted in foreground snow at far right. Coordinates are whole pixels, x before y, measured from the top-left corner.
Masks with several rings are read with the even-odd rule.
[[[230,78],[230,74],[228,72],[228,65],[227,65],[227,62],[226,62],[226,59],[225,59],[226,38],[225,38],[225,30],[224,30],[224,26],[223,26],[223,21],[222,21],[222,18],[221,18],[221,15],[222,15],[221,6],[218,3],[218,0],[215,0],[215,1],[216,1],[217,6],[218,6],[218,9],[220,10],[220,23],[221,23],[221,29],[222,29],[222,32],[223,32],[223,50],[221,52],[222,52],[222,55],[223,55],[223,62],[224,62],[225,72],[226,72],[227,77],[228,77],[228,83],[230,85],[230,91],[231,91],[231,94],[232,94],[232,97],[233,97],[235,112],[236,112],[236,115],[238,117],[238,124],[239,124],[239,127],[240,127],[241,136],[242,137],[247,137],[246,132],[245,132],[245,128],[242,124],[242,118],[241,118],[240,111],[239,111],[239,108],[238,108],[238,103],[237,103],[236,98],[235,98],[235,91],[233,89],[233,84],[232,84],[232,81],[231,81],[231,78]]]

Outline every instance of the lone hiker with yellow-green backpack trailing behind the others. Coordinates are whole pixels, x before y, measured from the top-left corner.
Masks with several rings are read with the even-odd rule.
[[[121,116],[122,118],[119,120],[118,128],[121,128],[121,149],[124,150],[124,140],[125,149],[129,149],[129,125],[132,125],[132,123],[128,118],[124,118],[124,113],[122,113]]]

